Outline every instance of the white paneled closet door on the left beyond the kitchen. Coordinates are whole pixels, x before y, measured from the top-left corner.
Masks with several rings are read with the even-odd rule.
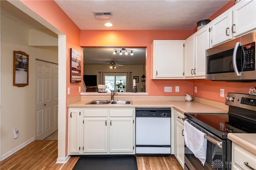
[[[54,127],[58,128],[58,83],[53,83],[52,68],[52,63],[36,60],[36,140],[45,139],[57,130]],[[54,75],[54,81],[56,76],[58,82],[58,71]],[[53,88],[53,84],[57,87]],[[54,121],[56,115],[57,123]]]

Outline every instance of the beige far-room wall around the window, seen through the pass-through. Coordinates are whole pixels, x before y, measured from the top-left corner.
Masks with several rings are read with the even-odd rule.
[[[118,66],[116,69],[110,69],[109,65],[86,65],[84,64],[84,74],[97,75],[97,84],[99,83],[99,72],[132,72],[133,76],[139,77],[139,82],[136,83],[138,92],[141,91],[140,85],[145,82],[141,82],[141,76],[143,75],[143,65],[124,65]]]

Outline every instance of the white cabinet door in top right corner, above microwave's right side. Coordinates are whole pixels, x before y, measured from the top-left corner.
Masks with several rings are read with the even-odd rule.
[[[256,0],[241,1],[233,9],[233,36],[256,28]]]

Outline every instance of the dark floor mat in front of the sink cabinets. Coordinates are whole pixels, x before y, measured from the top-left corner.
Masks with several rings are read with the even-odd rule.
[[[138,170],[135,156],[83,156],[73,170]]]

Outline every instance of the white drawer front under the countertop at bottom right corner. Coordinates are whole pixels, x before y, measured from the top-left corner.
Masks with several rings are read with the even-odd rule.
[[[236,166],[240,166],[244,170],[248,170],[248,168],[245,163],[248,162],[248,166],[251,166],[252,168],[256,168],[256,155],[252,154],[248,150],[243,149],[242,147],[232,143],[233,145],[233,158],[234,163]]]

